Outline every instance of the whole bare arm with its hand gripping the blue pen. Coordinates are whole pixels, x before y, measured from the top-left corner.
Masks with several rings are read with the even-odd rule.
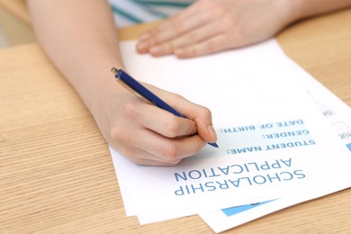
[[[105,1],[29,0],[28,4],[43,49],[76,89],[103,137],[132,162],[175,165],[216,140],[206,108],[148,85],[186,120],[144,103],[116,84],[110,70],[123,64]]]

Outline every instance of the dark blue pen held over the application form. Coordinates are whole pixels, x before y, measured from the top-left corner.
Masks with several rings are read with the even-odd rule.
[[[127,88],[131,93],[139,96],[145,102],[156,105],[157,107],[167,112],[171,112],[178,117],[186,118],[183,114],[175,111],[175,109],[172,106],[165,103],[156,94],[153,94],[145,86],[141,85],[137,80],[135,80],[133,77],[128,75],[123,70],[117,69],[116,67],[112,67],[111,71],[114,74],[117,82],[119,82],[121,85]],[[216,143],[208,143],[208,144],[211,145],[212,147],[218,148],[218,145]]]

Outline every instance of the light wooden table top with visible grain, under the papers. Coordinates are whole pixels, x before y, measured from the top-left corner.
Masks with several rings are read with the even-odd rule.
[[[351,105],[351,9],[278,35],[286,53]],[[148,25],[150,26],[150,25]],[[152,25],[151,25],[152,26]],[[145,26],[122,30],[135,38]],[[126,217],[106,142],[38,44],[0,50],[1,233],[211,233],[198,216]],[[351,190],[251,221],[235,233],[350,233]]]

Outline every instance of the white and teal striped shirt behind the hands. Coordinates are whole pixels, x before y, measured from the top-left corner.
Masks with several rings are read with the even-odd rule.
[[[194,0],[108,0],[117,27],[165,19]]]

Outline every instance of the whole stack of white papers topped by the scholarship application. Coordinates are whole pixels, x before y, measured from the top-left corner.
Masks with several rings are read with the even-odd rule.
[[[177,166],[134,165],[111,148],[141,224],[200,214],[220,232],[350,187],[350,108],[275,40],[191,59],[138,55],[135,41],[121,51],[131,76],[210,108],[220,146]]]

